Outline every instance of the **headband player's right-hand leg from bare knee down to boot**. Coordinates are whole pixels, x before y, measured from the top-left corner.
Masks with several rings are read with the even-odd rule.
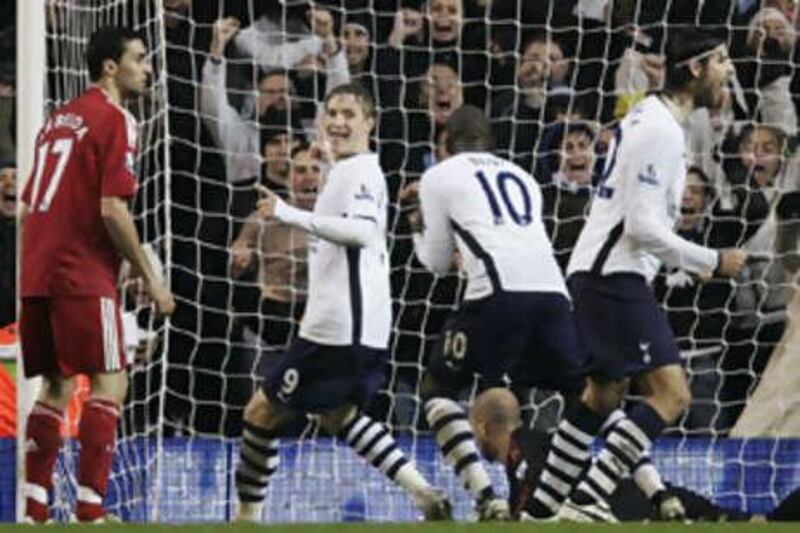
[[[629,474],[649,451],[653,439],[674,422],[691,401],[686,376],[678,365],[656,368],[636,378],[645,401],[612,428],[606,447],[578,486],[562,518],[577,521],[612,521],[606,501],[619,480]]]

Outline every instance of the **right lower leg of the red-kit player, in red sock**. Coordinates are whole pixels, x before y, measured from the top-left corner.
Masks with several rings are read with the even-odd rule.
[[[76,515],[82,522],[107,518],[103,499],[114,458],[117,421],[128,392],[128,374],[94,374],[90,376],[90,389],[78,425],[81,452]]]

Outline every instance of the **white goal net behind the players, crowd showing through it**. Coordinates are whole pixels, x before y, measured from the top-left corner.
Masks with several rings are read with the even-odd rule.
[[[232,516],[244,405],[296,332],[305,298],[304,243],[248,224],[254,184],[297,197],[313,191],[308,175],[315,164],[302,140],[315,138],[317,106],[344,75],[377,96],[374,147],[392,198],[392,357],[386,387],[369,411],[422,473],[452,495],[457,516],[469,516],[467,494],[440,458],[419,395],[428,354],[463,280],[455,273],[434,277],[414,259],[398,192],[439,157],[441,125],[452,110],[462,102],[479,105],[492,119],[498,152],[540,182],[543,216],[565,265],[614,122],[659,88],[665,36],[686,25],[727,39],[738,82],[724,110],[695,113],[687,125],[696,169],[677,229],[715,247],[744,246],[753,260],[733,281],[700,283],[680,271],[656,280],[694,400],[656,444],[653,459],[667,480],[721,504],[772,509],[800,476],[798,442],[774,438],[800,436],[796,422],[787,422],[791,394],[800,390],[784,380],[780,386],[789,390],[764,411],[772,417],[768,426],[746,422],[742,410],[763,386],[767,365],[780,363],[771,361],[776,347],[783,364],[800,357],[798,335],[790,334],[797,318],[789,312],[800,209],[789,193],[798,188],[800,167],[794,15],[760,9],[761,3],[770,4],[315,2],[331,11],[335,31],[346,37],[344,56],[337,57],[310,30],[309,2],[299,0],[43,2],[48,109],[86,88],[82,54],[98,26],[142,31],[154,66],[152,90],[129,106],[141,124],[135,213],[143,240],[165,265],[178,310],[161,323],[135,287],[126,291],[135,329],[155,341],[131,370],[109,509],[141,521]],[[235,17],[238,32],[220,43],[215,23],[225,17]],[[516,392],[526,423],[554,427],[559,396]],[[461,400],[468,404],[474,393],[465,391]],[[417,517],[409,498],[313,420],[290,433],[265,521]],[[77,443],[68,442],[56,476],[61,519],[75,499]],[[503,487],[502,471],[491,472]]]

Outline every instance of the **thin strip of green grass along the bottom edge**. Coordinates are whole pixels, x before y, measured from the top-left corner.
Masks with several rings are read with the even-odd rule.
[[[43,531],[119,531],[119,532],[148,532],[158,533],[159,531],[169,533],[179,533],[182,531],[192,533],[212,533],[212,532],[286,532],[286,533],[496,533],[496,532],[522,532],[522,531],[544,531],[553,533],[583,533],[594,531],[625,531],[628,532],[644,532],[644,533],[674,533],[674,532],[747,532],[758,533],[765,531],[768,533],[796,533],[800,531],[800,524],[798,523],[782,523],[782,524],[760,524],[750,522],[731,522],[726,524],[642,524],[628,522],[625,524],[464,524],[464,523],[448,523],[448,524],[432,524],[432,523],[414,523],[414,524],[384,524],[384,523],[347,523],[347,524],[299,524],[299,525],[276,525],[276,526],[263,526],[263,525],[240,525],[240,524],[192,524],[182,526],[166,526],[166,525],[151,525],[151,524],[115,524],[109,526],[81,526],[81,525],[65,525],[65,526],[48,526]],[[0,532],[3,531],[34,531],[31,526],[12,526],[0,524]],[[42,531],[36,529],[35,531]]]

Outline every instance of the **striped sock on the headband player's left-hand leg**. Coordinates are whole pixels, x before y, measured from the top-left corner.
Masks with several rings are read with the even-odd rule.
[[[603,420],[603,416],[578,403],[561,421],[533,492],[533,516],[544,518],[558,512],[589,465],[589,447]]]

